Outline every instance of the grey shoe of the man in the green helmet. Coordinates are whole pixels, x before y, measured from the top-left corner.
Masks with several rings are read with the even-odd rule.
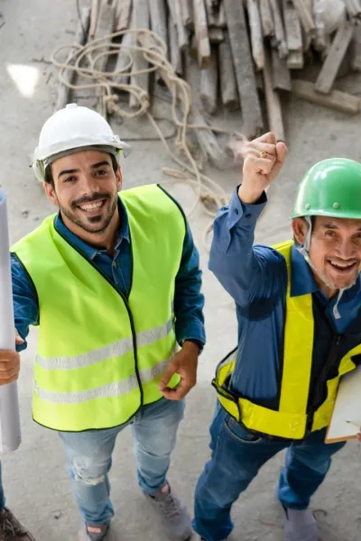
[[[319,541],[316,518],[310,509],[285,509],[285,541]]]

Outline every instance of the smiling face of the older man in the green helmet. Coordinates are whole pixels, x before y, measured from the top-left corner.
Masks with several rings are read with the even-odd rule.
[[[304,244],[308,231],[305,220],[295,218],[292,228],[297,242]],[[361,220],[315,216],[309,255],[319,285],[333,290],[352,286],[361,265]]]

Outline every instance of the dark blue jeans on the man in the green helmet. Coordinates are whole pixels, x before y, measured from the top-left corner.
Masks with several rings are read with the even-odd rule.
[[[275,454],[287,448],[278,498],[283,507],[307,509],[329,471],[331,455],[345,443],[325,444],[325,430],[312,432],[303,442],[275,441],[248,432],[217,406],[210,427],[212,455],[200,475],[195,495],[193,527],[207,541],[226,539],[233,529],[232,504]]]

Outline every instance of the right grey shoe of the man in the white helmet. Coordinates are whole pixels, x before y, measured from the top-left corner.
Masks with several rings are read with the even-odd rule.
[[[144,496],[162,518],[162,524],[172,541],[189,541],[193,535],[190,514],[167,483],[161,490]]]

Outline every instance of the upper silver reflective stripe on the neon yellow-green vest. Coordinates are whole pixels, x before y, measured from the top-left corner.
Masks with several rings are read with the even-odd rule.
[[[136,335],[137,347],[151,345],[165,338],[171,333],[173,328],[173,317],[165,325],[143,331]],[[36,354],[36,363],[44,370],[77,370],[85,366],[90,366],[95,362],[105,361],[110,357],[118,357],[133,351],[134,341],[133,336],[118,340],[114,344],[109,344],[98,348],[92,352],[74,355],[72,357],[42,357],[39,353]]]

